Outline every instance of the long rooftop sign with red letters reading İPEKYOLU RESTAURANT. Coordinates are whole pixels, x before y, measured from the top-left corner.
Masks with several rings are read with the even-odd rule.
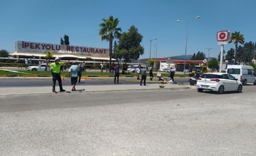
[[[37,43],[17,41],[15,43],[16,51],[27,52],[47,52],[51,51],[60,54],[77,54],[77,55],[93,55],[93,56],[109,56],[109,49],[95,47],[81,47],[70,45],[56,45],[50,43]]]

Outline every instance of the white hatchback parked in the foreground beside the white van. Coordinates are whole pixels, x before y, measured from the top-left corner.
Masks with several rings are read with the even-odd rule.
[[[236,91],[241,93],[243,85],[241,81],[227,73],[203,73],[197,80],[197,90],[216,91],[222,94],[224,91]]]

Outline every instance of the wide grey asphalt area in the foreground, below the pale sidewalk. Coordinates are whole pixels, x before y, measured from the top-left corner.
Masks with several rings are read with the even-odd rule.
[[[1,156],[255,156],[255,86],[0,96]]]

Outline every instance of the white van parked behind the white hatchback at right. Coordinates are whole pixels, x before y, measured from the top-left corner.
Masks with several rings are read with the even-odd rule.
[[[252,66],[228,65],[227,72],[240,80],[243,85],[253,83],[256,85],[256,73]]]

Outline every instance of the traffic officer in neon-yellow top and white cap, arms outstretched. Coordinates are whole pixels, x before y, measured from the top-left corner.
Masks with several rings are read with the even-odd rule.
[[[50,65],[48,64],[48,61],[46,62],[47,66],[53,67],[53,71],[52,71],[52,75],[53,75],[53,92],[55,93],[55,84],[56,84],[56,80],[59,83],[59,92],[65,92],[66,90],[64,90],[62,88],[62,82],[61,82],[61,65],[68,63],[68,62],[60,62],[61,60],[56,57],[55,58],[55,62],[51,63]]]

